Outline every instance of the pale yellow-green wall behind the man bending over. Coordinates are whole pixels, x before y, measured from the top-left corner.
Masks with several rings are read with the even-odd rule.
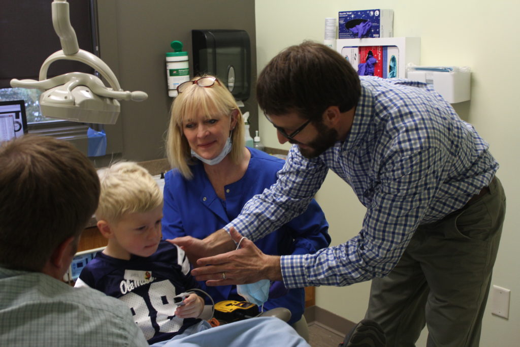
[[[411,1],[309,1],[259,0],[255,2],[258,72],[281,49],[305,39],[322,41],[324,18],[340,10],[394,9],[394,36],[421,37],[422,65],[470,66],[472,99],[454,107],[490,143],[500,162],[498,175],[508,195],[504,224],[492,284],[511,289],[510,319],[484,316],[482,346],[516,346],[520,341],[520,98],[517,58],[520,57],[518,20],[520,3],[505,0]],[[259,116],[259,130],[266,146],[281,146],[272,126]],[[364,209],[352,189],[329,174],[317,196],[331,224],[333,245],[359,231]],[[360,320],[366,309],[369,284],[345,288],[319,287],[316,303],[347,319]],[[418,345],[424,345],[424,334]],[[500,341],[500,342],[498,342]]]

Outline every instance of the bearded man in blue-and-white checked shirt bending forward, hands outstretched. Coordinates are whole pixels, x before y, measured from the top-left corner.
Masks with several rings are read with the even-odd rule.
[[[283,280],[287,288],[372,279],[366,317],[388,346],[477,346],[503,218],[497,161],[473,126],[420,82],[357,76],[333,50],[304,42],[262,71],[257,99],[293,144],[278,181],[202,241],[175,241],[209,285]],[[359,234],[315,254],[268,256],[244,240],[305,210],[328,170],[367,212]],[[348,218],[348,212],[346,213]],[[236,230],[235,230],[236,229]],[[231,235],[231,242],[228,233]]]

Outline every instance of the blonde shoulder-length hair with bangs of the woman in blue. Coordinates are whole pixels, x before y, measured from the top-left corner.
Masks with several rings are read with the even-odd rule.
[[[192,81],[203,77],[213,76],[198,76],[193,78]],[[242,112],[240,112],[235,98],[223,82],[218,79],[217,81],[211,87],[200,87],[193,83],[183,93],[179,93],[172,105],[166,138],[166,155],[172,168],[177,168],[188,179],[193,177],[190,165],[193,165],[196,161],[191,157],[190,146],[184,136],[183,121],[194,117],[200,111],[208,119],[215,112],[231,117],[233,110],[237,111],[237,124],[231,132],[231,161],[238,164],[243,158],[245,142]]]

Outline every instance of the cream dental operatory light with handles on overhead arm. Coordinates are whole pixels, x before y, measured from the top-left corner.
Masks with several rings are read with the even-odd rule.
[[[39,81],[11,80],[11,87],[41,89],[40,107],[45,117],[83,123],[115,124],[120,112],[118,100],[142,101],[145,92],[125,92],[108,65],[94,54],[80,49],[69,17],[67,0],[51,4],[53,26],[60,38],[61,48],[51,54],[40,68]],[[47,79],[49,65],[56,60],[76,60],[98,71],[110,85],[93,74],[70,72]]]

